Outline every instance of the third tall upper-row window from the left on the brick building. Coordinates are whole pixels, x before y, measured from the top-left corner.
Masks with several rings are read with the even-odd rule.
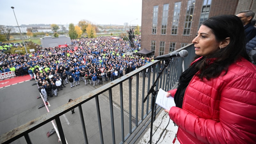
[[[172,19],[172,35],[177,35],[179,19],[180,19],[181,2],[174,3],[173,19]]]

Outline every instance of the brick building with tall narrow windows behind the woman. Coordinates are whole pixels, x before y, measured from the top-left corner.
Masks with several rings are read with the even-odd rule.
[[[155,56],[173,52],[192,43],[204,20],[255,8],[252,0],[142,0],[141,47]]]

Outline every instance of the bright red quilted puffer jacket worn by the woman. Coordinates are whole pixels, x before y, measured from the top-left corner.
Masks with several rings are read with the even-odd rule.
[[[180,143],[256,143],[256,66],[242,58],[224,73],[203,81],[194,76],[182,109],[170,109]]]

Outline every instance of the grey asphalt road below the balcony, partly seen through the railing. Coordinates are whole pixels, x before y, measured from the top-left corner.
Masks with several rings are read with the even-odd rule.
[[[33,83],[35,83],[35,81],[27,81],[0,89],[0,135],[47,113],[45,107],[38,109],[38,106],[43,103],[43,100],[36,99],[36,97],[39,96],[39,91],[37,90],[37,85],[32,85]],[[48,98],[50,103],[50,107],[48,108],[51,111],[67,103],[68,99],[76,99],[92,90],[94,90],[93,86],[86,86],[82,82],[80,85],[73,88],[70,88],[70,85],[67,84],[67,87],[63,88],[63,90],[59,92],[58,97]],[[112,143],[111,120],[109,118],[109,102],[105,96],[100,96],[99,100],[103,127],[103,138],[105,143]],[[86,105],[82,105],[82,108],[89,143],[100,143],[95,100],[92,99],[89,102],[86,102]],[[75,114],[68,112],[63,116],[60,116],[60,121],[62,123],[67,142],[80,144],[84,143],[84,136],[81,128],[78,108],[75,108],[75,112]],[[118,126],[121,122],[120,110],[118,107],[114,107],[114,118],[116,142],[119,143],[122,136],[120,132],[121,126]],[[128,117],[124,116],[124,129],[126,132],[129,131],[128,120]],[[52,123],[48,123],[29,133],[29,136],[32,142],[37,144],[59,144],[56,133],[51,135],[49,138],[46,136],[46,133],[52,129]],[[26,142],[24,138],[20,138],[13,143]]]

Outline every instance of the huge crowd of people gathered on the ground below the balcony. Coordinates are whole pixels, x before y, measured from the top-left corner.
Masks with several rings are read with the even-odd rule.
[[[0,72],[14,71],[16,76],[29,74],[31,79],[36,79],[39,91],[52,97],[52,94],[58,96],[58,91],[68,83],[71,88],[81,82],[100,85],[153,60],[153,57],[126,54],[138,50],[140,36],[135,37],[134,48],[114,36],[80,38],[71,40],[71,45],[64,48],[38,45],[37,52],[28,55],[1,53]],[[104,68],[103,73],[100,68]],[[47,101],[47,96],[44,100]]]

